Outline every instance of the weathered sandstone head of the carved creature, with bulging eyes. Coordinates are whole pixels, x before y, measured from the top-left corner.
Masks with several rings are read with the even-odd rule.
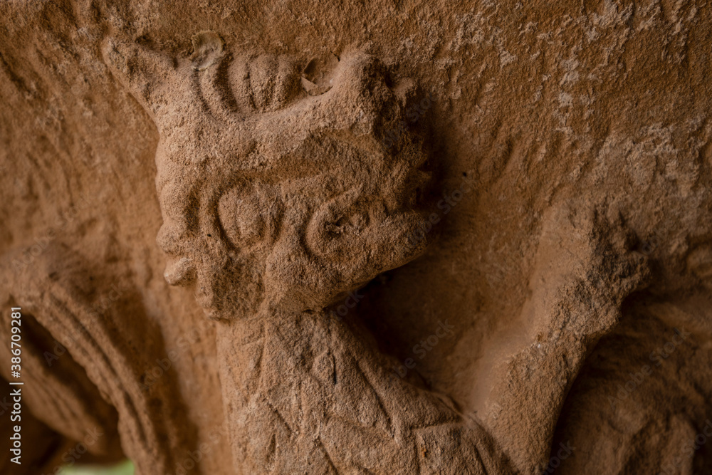
[[[329,72],[329,93],[312,96],[289,58],[233,58],[212,32],[193,42],[177,67],[137,46],[107,53],[161,134],[169,283],[195,281],[218,319],[317,310],[422,251],[404,245],[429,179],[422,140],[382,145],[408,85],[389,88],[378,61],[354,52]],[[142,90],[137,70],[169,92]]]

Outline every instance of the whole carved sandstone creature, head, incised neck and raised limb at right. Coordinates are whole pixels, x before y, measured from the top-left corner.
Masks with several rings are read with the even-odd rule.
[[[239,58],[214,32],[192,42],[192,56],[177,60],[135,44],[108,43],[105,55],[159,129],[165,277],[193,283],[206,314],[224,320],[217,338],[236,466],[435,474],[505,473],[518,462],[530,469],[567,383],[523,413],[520,395],[538,387],[526,367],[560,361],[541,377],[574,377],[587,341],[614,325],[622,298],[644,276],[644,256],[629,252],[617,216],[568,205],[548,219],[542,266],[562,259],[549,246],[570,248],[580,256],[555,268],[586,263],[580,278],[599,275],[603,263],[586,253],[605,246],[605,265],[614,267],[607,281],[574,280],[585,282],[587,296],[570,294],[571,276],[532,288],[523,312],[534,314],[526,338],[538,343],[523,342],[520,356],[493,369],[493,392],[505,396],[491,430],[518,438],[522,450],[510,461],[481,421],[444,395],[394,378],[363,328],[325,311],[426,244],[407,239],[424,219],[424,139],[408,131],[389,147],[385,138],[404,120],[414,85],[389,85],[376,58],[353,51],[320,62],[333,70],[320,74],[330,79],[317,90],[289,58]],[[620,237],[598,242],[596,234]],[[582,341],[576,353],[557,350],[562,331]]]

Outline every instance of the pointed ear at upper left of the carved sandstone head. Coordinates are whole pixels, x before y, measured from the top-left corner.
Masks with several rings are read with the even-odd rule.
[[[102,53],[112,75],[151,115],[169,102],[167,93],[181,83],[178,62],[143,44],[110,38]]]

